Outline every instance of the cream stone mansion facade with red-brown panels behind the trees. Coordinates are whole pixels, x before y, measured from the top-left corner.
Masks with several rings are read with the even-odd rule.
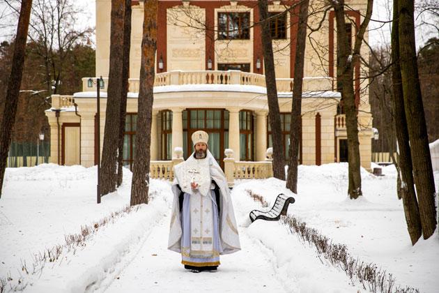
[[[320,2],[313,4],[316,9]],[[282,156],[286,157],[298,29],[295,14],[298,9],[288,8],[294,3],[269,2],[282,120]],[[362,20],[366,1],[351,1],[350,5],[354,10],[346,17],[346,33],[353,39],[352,31]],[[123,149],[127,167],[132,166],[134,150],[139,147],[135,146],[134,139],[143,9],[143,1],[132,1],[128,114]],[[111,1],[97,0],[96,76],[104,77],[100,89],[100,137],[95,119],[96,88],[88,87],[89,77],[84,77],[82,92],[73,96],[52,96],[52,109],[46,112],[51,126],[50,160],[53,163],[89,167],[97,162],[97,142],[100,140],[102,148],[105,127],[110,14]],[[325,20],[321,22],[323,16]],[[172,160],[178,147],[183,148],[186,158],[192,152],[190,137],[200,129],[209,133],[210,151],[221,165],[225,149],[233,150],[235,160],[265,160],[272,141],[261,27],[255,24],[258,21],[257,1],[159,1],[151,160]],[[307,38],[300,163],[321,165],[346,161],[346,126],[340,94],[335,90],[334,14],[322,10],[312,15],[309,23],[318,29]],[[364,68],[355,68],[360,155],[362,167],[370,169],[373,133],[368,114],[369,93],[360,89],[362,72]]]

